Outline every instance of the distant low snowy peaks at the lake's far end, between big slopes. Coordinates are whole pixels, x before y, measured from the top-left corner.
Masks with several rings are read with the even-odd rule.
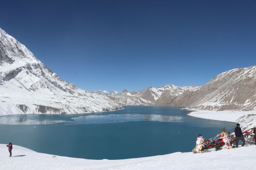
[[[157,106],[185,106],[190,98],[186,98],[190,93],[194,93],[201,86],[165,85],[159,88],[149,87],[142,91],[127,91],[119,93],[117,91],[95,91],[98,94],[106,95],[119,105],[157,105]],[[112,97],[111,97],[112,96]],[[114,97],[113,97],[114,96]],[[189,95],[191,96],[191,95]]]

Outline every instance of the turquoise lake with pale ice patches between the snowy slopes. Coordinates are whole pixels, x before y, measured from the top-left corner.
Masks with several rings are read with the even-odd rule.
[[[0,143],[12,142],[59,156],[128,159],[190,152],[198,133],[211,138],[221,133],[223,127],[232,133],[236,126],[234,122],[187,116],[189,111],[180,108],[124,108],[79,115],[1,116]]]

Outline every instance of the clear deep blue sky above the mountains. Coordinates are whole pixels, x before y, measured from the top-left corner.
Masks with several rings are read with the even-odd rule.
[[[256,65],[256,0],[6,0],[0,16],[0,28],[87,91],[204,85]]]

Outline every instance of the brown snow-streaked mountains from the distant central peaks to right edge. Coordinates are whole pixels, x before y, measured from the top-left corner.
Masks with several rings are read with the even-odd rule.
[[[185,107],[187,110],[253,111],[256,109],[256,66],[226,71],[202,87],[166,85],[139,92],[125,89],[115,96],[137,96],[155,106]]]

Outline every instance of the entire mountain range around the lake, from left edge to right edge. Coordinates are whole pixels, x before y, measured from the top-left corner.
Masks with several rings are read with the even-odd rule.
[[[87,92],[62,80],[0,28],[0,116],[113,111],[124,105],[255,110],[256,66],[226,71],[202,87],[165,85],[138,92]]]

